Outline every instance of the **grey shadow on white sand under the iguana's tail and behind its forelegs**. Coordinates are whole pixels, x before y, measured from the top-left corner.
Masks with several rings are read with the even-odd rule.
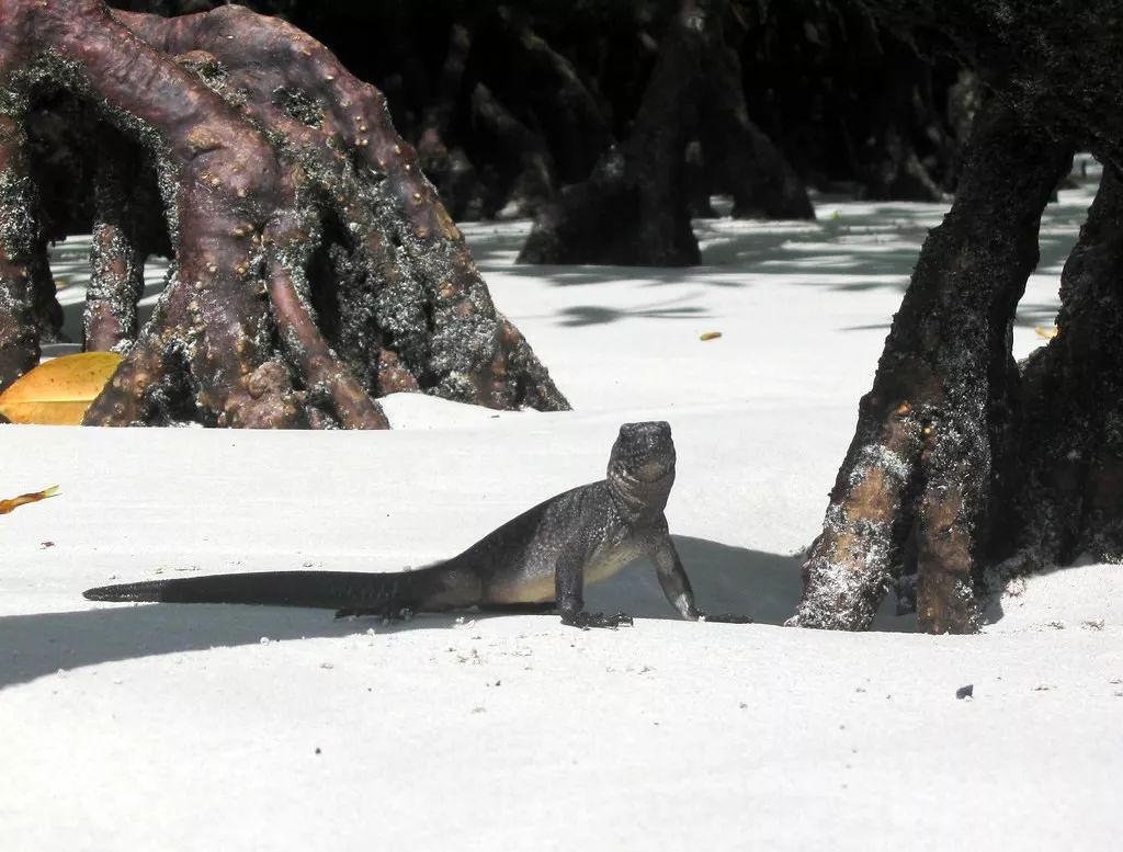
[[[694,586],[697,605],[711,613],[747,615],[782,624],[800,601],[800,562],[789,556],[734,548],[705,539],[673,537]],[[75,601],[81,589],[74,590]],[[586,607],[624,611],[637,619],[677,619],[642,560],[586,589]],[[471,617],[490,616],[473,613]],[[554,615],[541,617],[556,619]],[[374,626],[447,630],[456,614],[421,615],[382,626],[365,619],[336,621],[325,610],[222,604],[112,605],[63,613],[0,616],[0,689],[60,669],[270,640],[346,636]],[[879,630],[909,630],[907,620],[883,616]]]

